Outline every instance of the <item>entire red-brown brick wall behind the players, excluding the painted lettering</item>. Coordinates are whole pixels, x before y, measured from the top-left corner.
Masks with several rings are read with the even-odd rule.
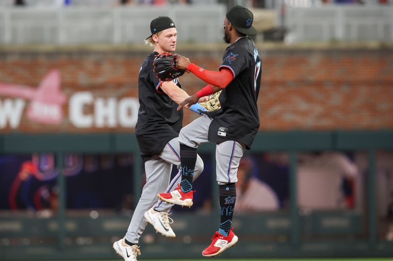
[[[205,69],[217,70],[223,50],[182,53]],[[393,128],[392,49],[259,48],[259,52],[261,130]],[[148,51],[111,49],[0,51],[0,82],[36,88],[49,71],[58,69],[61,91],[66,96],[79,91],[90,91],[99,97],[138,96],[137,75],[147,54]],[[180,82],[189,94],[204,86],[191,73],[182,76]],[[5,98],[0,95],[0,101]],[[63,109],[65,119],[60,125],[44,128],[26,119],[24,114],[20,129],[28,132],[92,130],[70,126],[66,118],[67,102]],[[186,112],[185,123],[196,117]]]

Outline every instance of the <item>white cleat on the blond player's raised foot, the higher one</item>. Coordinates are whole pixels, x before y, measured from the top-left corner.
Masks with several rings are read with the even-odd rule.
[[[173,223],[173,219],[168,216],[168,213],[157,212],[153,208],[143,214],[146,221],[152,224],[154,229],[161,235],[166,237],[176,237],[169,225]]]

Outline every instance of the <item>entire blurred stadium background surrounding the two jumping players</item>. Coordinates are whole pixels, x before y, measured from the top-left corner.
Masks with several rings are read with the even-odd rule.
[[[258,30],[261,127],[222,256],[393,256],[392,0],[1,0],[0,260],[115,258],[144,183],[149,23],[170,16],[177,52],[217,70],[233,4]],[[173,208],[175,239],[147,227],[141,260],[199,258],[217,229],[214,146],[199,152],[195,206]]]

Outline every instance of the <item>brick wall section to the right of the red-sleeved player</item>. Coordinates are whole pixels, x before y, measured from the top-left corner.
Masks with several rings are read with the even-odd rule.
[[[392,51],[270,51],[263,62],[262,128],[393,127]]]

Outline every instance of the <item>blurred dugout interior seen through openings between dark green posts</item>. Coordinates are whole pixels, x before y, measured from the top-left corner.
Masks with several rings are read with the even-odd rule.
[[[209,155],[202,155],[206,172]],[[132,155],[66,156],[67,206],[69,209],[112,209],[128,212],[133,206]],[[367,156],[363,152],[314,152],[298,155],[298,204],[308,210],[362,211],[365,208]],[[173,174],[177,171],[174,169]],[[56,211],[56,177],[53,154],[31,157],[2,156],[0,209]],[[110,175],[116,173],[116,175]],[[393,218],[393,153],[377,154],[378,215]],[[91,177],[95,177],[94,183]],[[250,154],[238,173],[237,204],[242,212],[289,208],[289,156],[284,152]],[[113,181],[111,181],[113,179]],[[211,174],[196,181],[198,193],[191,211],[211,211]],[[143,185],[144,181],[142,180]],[[93,186],[92,186],[93,185]],[[115,186],[114,186],[115,185]],[[106,193],[102,193],[106,191]],[[121,199],[121,200],[119,200]],[[180,208],[178,211],[181,210]],[[187,210],[189,211],[189,210]]]

